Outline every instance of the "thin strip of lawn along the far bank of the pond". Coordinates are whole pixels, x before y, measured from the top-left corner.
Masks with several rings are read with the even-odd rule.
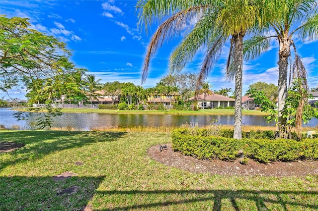
[[[91,108],[63,108],[65,113],[123,113],[123,114],[178,114],[178,115],[234,115],[234,109],[200,109],[192,110],[107,110]],[[242,110],[243,115],[268,115],[260,110]]]

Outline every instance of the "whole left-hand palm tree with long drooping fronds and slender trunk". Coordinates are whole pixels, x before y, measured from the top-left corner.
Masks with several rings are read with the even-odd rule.
[[[164,2],[164,3],[163,3]],[[185,31],[184,26],[191,26],[192,30],[183,38],[170,57],[170,70],[180,71],[192,59],[197,51],[206,47],[206,53],[197,81],[197,91],[206,79],[219,58],[222,47],[231,36],[231,51],[229,55],[228,70],[232,55],[235,69],[235,126],[234,138],[241,138],[241,97],[242,97],[242,61],[243,37],[255,25],[259,17],[259,6],[256,0],[140,0],[137,8],[140,24],[152,24],[154,18],[167,18],[157,29],[148,46],[143,66],[142,82],[147,78],[150,58],[157,51],[159,45],[169,37]],[[261,23],[261,22],[260,22]],[[228,71],[229,72],[229,71]]]

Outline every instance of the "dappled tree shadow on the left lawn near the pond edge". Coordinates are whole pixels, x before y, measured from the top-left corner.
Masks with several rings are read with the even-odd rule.
[[[79,148],[96,142],[113,142],[126,132],[105,131],[9,131],[1,132],[1,142],[25,144],[9,152],[10,159],[1,161],[0,169],[30,159],[38,159],[56,151]]]

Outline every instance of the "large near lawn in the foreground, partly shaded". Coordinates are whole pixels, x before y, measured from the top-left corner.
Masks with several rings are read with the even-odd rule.
[[[318,175],[219,176],[169,167],[147,149],[169,133],[0,131],[25,147],[0,154],[0,210],[318,210]],[[83,162],[76,165],[76,162]],[[79,174],[65,181],[52,177]],[[77,193],[60,195],[78,186]]]

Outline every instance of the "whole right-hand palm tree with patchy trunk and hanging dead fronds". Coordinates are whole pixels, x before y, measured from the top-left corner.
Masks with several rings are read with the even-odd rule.
[[[268,19],[269,25],[264,29],[273,29],[274,35],[252,37],[244,44],[244,54],[246,59],[255,58],[269,49],[271,39],[278,41],[278,122],[279,132],[285,136],[287,132],[284,125],[287,118],[282,115],[282,111],[285,106],[285,99],[287,98],[288,59],[291,56],[291,46],[294,49],[295,62],[294,73],[290,72],[289,84],[291,78],[293,78],[292,75],[296,74],[297,77],[303,79],[302,86],[308,89],[306,69],[300,56],[297,54],[293,36],[300,38],[302,41],[317,39],[317,0],[265,0],[263,8],[264,11],[270,13],[270,15],[266,15],[270,18]],[[306,97],[304,96],[304,98]],[[302,113],[301,106],[298,113]],[[297,122],[297,124],[301,125],[301,118],[298,118]]]

